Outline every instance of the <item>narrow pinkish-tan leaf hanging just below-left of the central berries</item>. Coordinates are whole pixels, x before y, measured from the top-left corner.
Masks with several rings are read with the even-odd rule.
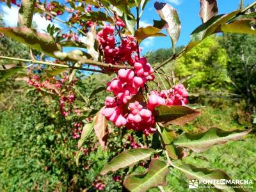
[[[102,108],[104,109],[104,108]],[[99,143],[104,150],[108,141],[108,121],[105,116],[102,115],[102,109],[95,116],[94,131]]]

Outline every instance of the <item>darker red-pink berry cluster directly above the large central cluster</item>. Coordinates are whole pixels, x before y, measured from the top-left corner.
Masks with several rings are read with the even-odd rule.
[[[125,26],[121,19],[117,19],[116,25],[120,27]],[[99,48],[104,55],[104,61],[106,63],[118,65],[127,62],[130,65],[134,65],[136,58],[134,53],[137,50],[137,44],[133,36],[122,36],[121,42],[117,43],[115,39],[115,27],[107,25],[97,33],[97,41],[99,42]]]

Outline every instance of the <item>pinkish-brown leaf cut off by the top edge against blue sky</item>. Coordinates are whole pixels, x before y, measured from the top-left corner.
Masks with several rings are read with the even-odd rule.
[[[217,0],[200,0],[199,16],[205,23],[218,13]]]

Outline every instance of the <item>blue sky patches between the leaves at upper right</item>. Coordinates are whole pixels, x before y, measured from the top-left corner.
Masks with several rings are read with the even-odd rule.
[[[153,24],[153,19],[159,20],[159,16],[154,10],[154,2],[149,1],[141,18],[142,22]],[[180,39],[177,45],[186,45],[189,42],[190,33],[200,24],[202,24],[198,12],[200,9],[199,0],[166,0],[163,1],[166,3],[172,4],[179,13],[180,22],[181,22],[181,33]],[[250,4],[255,2],[255,0],[245,0],[244,4]],[[218,0],[219,13],[229,13],[237,9],[240,0]],[[143,45],[143,52],[156,50],[159,48],[170,48],[171,42],[170,38],[166,37],[156,37],[151,38],[150,40],[145,40]]]

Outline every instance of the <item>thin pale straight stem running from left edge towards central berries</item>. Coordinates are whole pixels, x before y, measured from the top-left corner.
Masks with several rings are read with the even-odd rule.
[[[46,61],[24,60],[24,59],[20,59],[20,58],[10,58],[10,57],[5,57],[5,56],[0,56],[0,59],[24,61],[24,62],[36,63],[36,64],[40,64],[40,65],[50,65],[50,66],[55,66],[55,67],[63,67],[63,68],[69,68],[69,69],[78,69],[78,70],[86,70],[86,71],[90,71],[90,72],[104,73],[104,72],[102,72],[102,70],[96,70],[96,69],[91,69],[91,68],[83,68],[83,67],[82,68],[72,67],[72,66],[69,66],[69,65],[63,65],[63,64],[59,64],[59,63],[51,63],[51,62],[46,62]],[[25,68],[28,68],[28,67],[31,67],[31,65],[29,65]],[[109,72],[106,72],[106,73],[109,73]]]

